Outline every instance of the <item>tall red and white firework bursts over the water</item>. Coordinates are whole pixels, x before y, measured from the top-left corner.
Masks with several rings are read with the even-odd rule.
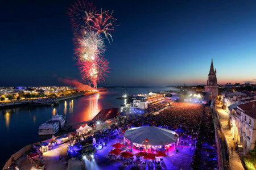
[[[107,73],[110,73],[109,62],[103,58],[106,47],[101,34],[108,41],[109,37],[112,40],[116,20],[113,11],[97,11],[92,2],[81,0],[71,5],[67,14],[74,32],[75,60],[82,79],[96,87],[97,83],[105,82]]]

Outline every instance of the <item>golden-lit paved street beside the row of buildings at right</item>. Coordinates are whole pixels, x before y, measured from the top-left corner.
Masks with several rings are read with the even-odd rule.
[[[220,116],[221,126],[224,131],[226,141],[228,143],[229,154],[230,154],[230,163],[231,163],[232,170],[244,169],[243,165],[242,165],[242,161],[240,159],[240,156],[235,151],[236,145],[235,145],[235,142],[233,141],[232,131],[228,127],[228,113],[226,113],[224,111],[224,109],[221,108],[222,107],[221,104],[217,104],[216,106],[217,106],[217,112]],[[233,155],[231,152],[231,147],[233,147]]]

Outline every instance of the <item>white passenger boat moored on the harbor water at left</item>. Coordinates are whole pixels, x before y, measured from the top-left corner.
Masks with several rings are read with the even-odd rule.
[[[57,112],[50,120],[39,126],[39,135],[53,135],[65,124],[65,117]]]

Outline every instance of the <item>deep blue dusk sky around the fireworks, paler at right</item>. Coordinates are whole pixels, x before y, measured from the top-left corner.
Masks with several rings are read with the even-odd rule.
[[[60,85],[80,78],[67,7],[72,1],[0,6],[0,87]],[[106,85],[256,82],[256,1],[93,1],[118,19],[105,58]]]

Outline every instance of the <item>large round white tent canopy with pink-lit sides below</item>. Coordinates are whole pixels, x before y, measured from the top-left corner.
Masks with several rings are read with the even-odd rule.
[[[125,131],[125,138],[130,142],[142,144],[148,139],[148,145],[167,145],[176,142],[175,131],[155,126],[141,126]]]

